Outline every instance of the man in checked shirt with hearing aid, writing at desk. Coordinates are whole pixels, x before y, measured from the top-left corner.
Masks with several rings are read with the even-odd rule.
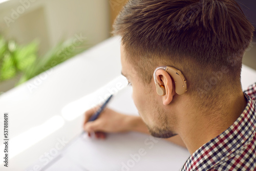
[[[114,34],[140,117],[106,109],[87,122],[92,109],[84,130],[168,138],[191,154],[182,170],[255,170],[256,84],[243,92],[240,77],[253,29],[234,0],[129,1]],[[155,83],[160,66],[178,75],[156,70]]]

